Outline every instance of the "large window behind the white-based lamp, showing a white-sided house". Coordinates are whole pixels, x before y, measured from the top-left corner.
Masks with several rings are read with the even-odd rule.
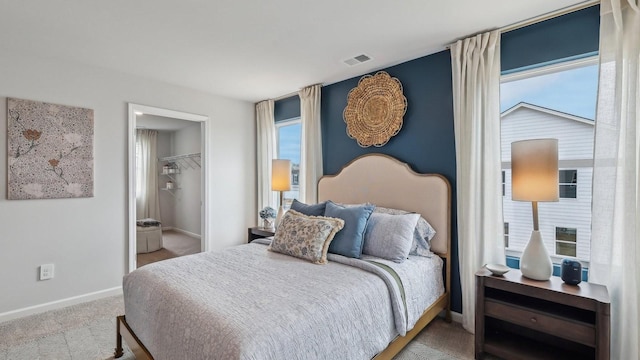
[[[512,255],[523,251],[529,240],[531,203],[513,201],[508,196],[511,193],[511,143],[555,138],[558,139],[561,201],[541,203],[540,232],[549,245],[553,244],[549,253],[589,260],[597,89],[597,58],[560,62],[502,76],[503,222],[505,247],[508,246]],[[577,196],[578,174],[580,196]],[[564,201],[569,199],[571,201]],[[575,226],[556,227],[557,224]]]

